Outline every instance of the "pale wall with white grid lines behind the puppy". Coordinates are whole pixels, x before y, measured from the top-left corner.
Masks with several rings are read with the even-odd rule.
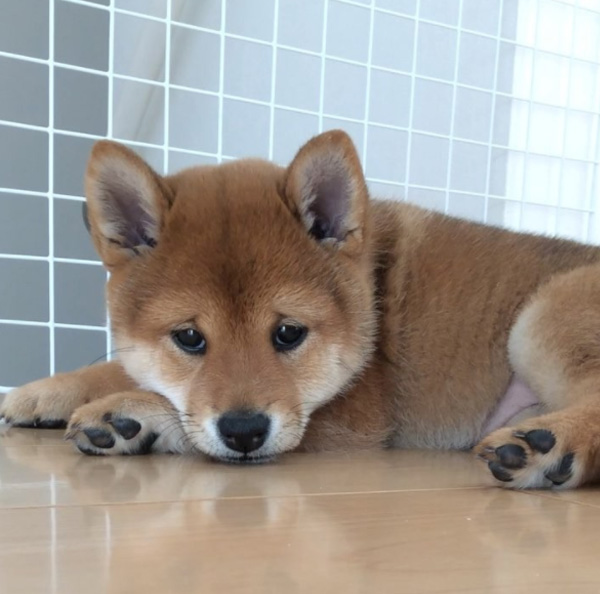
[[[376,195],[598,242],[599,68],[599,0],[0,3],[0,391],[110,349],[95,139],[165,172],[341,127]]]

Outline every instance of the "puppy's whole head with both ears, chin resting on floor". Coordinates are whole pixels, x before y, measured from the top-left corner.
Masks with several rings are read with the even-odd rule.
[[[209,456],[295,448],[374,340],[368,193],[348,136],[312,139],[287,169],[242,160],[170,177],[103,141],[86,193],[127,372]]]

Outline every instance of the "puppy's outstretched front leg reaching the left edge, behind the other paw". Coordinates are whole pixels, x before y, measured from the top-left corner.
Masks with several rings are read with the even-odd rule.
[[[80,406],[135,387],[118,361],[98,363],[12,390],[4,398],[0,417],[14,427],[62,428]]]

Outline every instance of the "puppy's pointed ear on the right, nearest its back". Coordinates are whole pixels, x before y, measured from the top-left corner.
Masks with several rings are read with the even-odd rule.
[[[298,151],[284,193],[316,240],[340,247],[362,243],[369,193],[354,144],[342,130],[315,136]]]

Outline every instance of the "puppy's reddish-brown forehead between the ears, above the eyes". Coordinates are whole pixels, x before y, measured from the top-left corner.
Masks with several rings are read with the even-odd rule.
[[[236,302],[329,284],[327,258],[282,199],[283,178],[282,168],[253,160],[168,178],[175,201],[161,246],[166,277],[183,275],[187,288]]]

